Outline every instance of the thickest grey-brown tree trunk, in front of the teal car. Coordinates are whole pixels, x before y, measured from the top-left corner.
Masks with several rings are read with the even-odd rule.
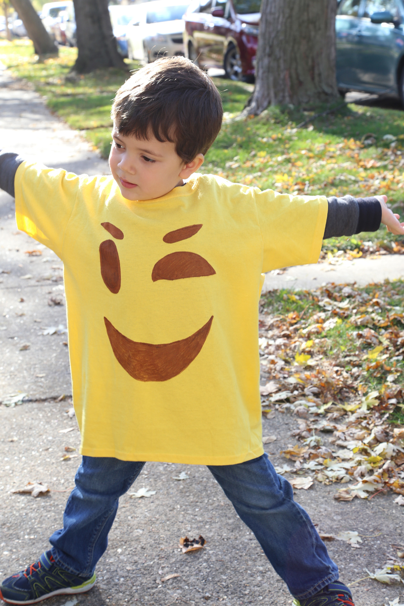
[[[262,0],[257,73],[248,113],[338,98],[337,0]]]

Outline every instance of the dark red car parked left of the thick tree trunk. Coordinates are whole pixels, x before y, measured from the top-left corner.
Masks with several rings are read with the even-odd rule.
[[[260,0],[193,0],[184,15],[185,56],[222,67],[227,78],[254,81]]]

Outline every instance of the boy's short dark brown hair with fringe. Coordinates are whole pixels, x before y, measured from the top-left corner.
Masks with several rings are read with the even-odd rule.
[[[175,143],[191,162],[205,154],[222,125],[219,91],[209,76],[184,57],[165,57],[145,65],[116,93],[111,118],[119,133]]]

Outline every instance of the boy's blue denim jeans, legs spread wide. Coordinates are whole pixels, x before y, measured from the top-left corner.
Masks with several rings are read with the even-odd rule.
[[[68,498],[64,527],[50,538],[57,564],[78,576],[91,576],[107,549],[118,499],[133,484],[144,462],[84,456],[76,488]],[[267,454],[236,465],[210,465],[234,509],[253,531],[290,593],[309,598],[338,579],[338,568],[308,514],[293,500]]]

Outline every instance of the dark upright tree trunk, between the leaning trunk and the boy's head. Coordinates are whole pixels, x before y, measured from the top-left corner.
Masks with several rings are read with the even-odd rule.
[[[112,33],[108,0],[73,0],[79,54],[73,70],[88,73],[103,67],[127,69]]]

